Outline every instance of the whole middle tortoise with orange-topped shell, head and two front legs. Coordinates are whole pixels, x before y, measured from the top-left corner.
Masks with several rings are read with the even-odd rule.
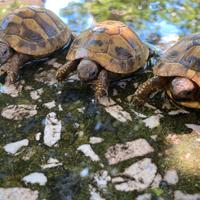
[[[107,20],[73,41],[66,56],[68,62],[58,69],[56,76],[62,81],[77,69],[80,80],[94,86],[98,99],[108,94],[113,78],[137,71],[149,56],[150,49],[135,32],[120,21]]]

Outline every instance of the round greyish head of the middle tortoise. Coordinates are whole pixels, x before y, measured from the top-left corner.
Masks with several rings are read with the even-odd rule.
[[[77,67],[78,76],[82,81],[94,80],[99,72],[98,66],[94,61],[83,59]]]

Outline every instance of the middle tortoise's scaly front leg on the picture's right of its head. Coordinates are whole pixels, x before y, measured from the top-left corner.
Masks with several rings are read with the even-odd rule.
[[[108,72],[106,70],[101,70],[98,78],[94,81],[95,98],[98,100],[104,94],[108,96],[109,79]]]

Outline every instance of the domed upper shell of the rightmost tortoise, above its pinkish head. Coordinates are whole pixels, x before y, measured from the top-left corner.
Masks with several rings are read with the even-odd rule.
[[[186,36],[173,45],[153,70],[159,76],[187,77],[200,86],[200,34]]]

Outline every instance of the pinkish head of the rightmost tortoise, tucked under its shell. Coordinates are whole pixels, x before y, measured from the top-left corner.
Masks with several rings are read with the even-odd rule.
[[[198,98],[198,85],[185,77],[175,77],[171,81],[171,93],[176,100],[195,100]]]

